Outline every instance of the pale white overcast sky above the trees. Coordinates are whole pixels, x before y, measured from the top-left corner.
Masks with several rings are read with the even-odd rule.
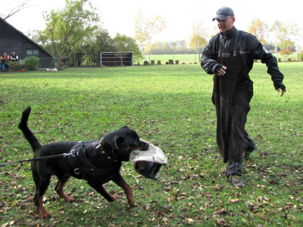
[[[0,13],[4,14],[4,8],[11,9],[18,5],[19,1],[0,0]],[[146,17],[151,18],[157,14],[166,21],[166,30],[155,40],[186,40],[190,34],[193,20],[197,18],[202,19],[209,29],[214,30],[216,21],[212,21],[212,19],[216,10],[224,5],[234,10],[236,17],[234,25],[240,30],[247,31],[251,21],[256,18],[260,18],[269,27],[275,20],[278,20],[286,23],[295,22],[303,28],[302,0],[91,0],[91,2],[98,8],[103,27],[108,30],[112,38],[117,32],[133,37],[134,18],[141,10]],[[25,34],[34,29],[43,30],[45,23],[42,12],[64,7],[65,0],[30,0],[29,4],[33,6],[23,9],[7,19],[7,22]],[[301,32],[303,34],[303,29]],[[298,43],[303,46],[302,37]]]

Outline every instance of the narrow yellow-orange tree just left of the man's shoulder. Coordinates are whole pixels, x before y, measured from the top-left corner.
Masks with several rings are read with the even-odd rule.
[[[201,61],[200,54],[203,51],[203,48],[207,45],[207,31],[202,26],[201,21],[194,21],[192,26],[192,32],[189,37],[189,46],[195,50],[195,53],[198,54],[199,62]]]

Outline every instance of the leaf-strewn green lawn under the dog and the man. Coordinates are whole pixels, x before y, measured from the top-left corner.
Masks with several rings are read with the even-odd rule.
[[[157,181],[138,175],[128,162],[122,165],[135,208],[112,182],[105,188],[117,200],[108,203],[74,178],[65,192],[76,202],[65,203],[53,190],[54,177],[44,197],[50,220],[38,219],[30,163],[0,167],[0,226],[303,226],[303,62],[279,67],[283,97],[265,65],[255,63],[250,73],[254,97],[246,130],[257,149],[243,164],[242,189],[224,175],[212,76],[199,64],[1,73],[0,163],[33,157],[17,128],[28,105],[29,127],[42,144],[95,140],[128,125],[169,160]]]

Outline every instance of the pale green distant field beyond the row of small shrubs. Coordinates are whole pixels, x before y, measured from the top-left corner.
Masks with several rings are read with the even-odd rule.
[[[148,58],[148,55],[144,56],[146,59]],[[277,58],[281,58],[281,61],[284,62],[285,59],[280,54],[277,54]],[[292,60],[298,60],[297,53],[293,53],[289,56]],[[179,61],[179,64],[182,64],[183,62],[186,64],[199,62],[199,57],[197,54],[167,54],[167,55],[151,55],[151,61],[155,61],[155,64],[158,61],[161,61],[162,64],[165,64],[165,62],[168,62],[169,60],[173,60],[175,63],[176,60]],[[140,64],[143,64],[145,60],[140,61]],[[134,64],[137,64],[137,62],[134,62]]]

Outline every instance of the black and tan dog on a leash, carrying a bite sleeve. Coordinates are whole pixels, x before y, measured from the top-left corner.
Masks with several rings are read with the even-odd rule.
[[[108,193],[103,184],[112,180],[124,190],[130,207],[135,206],[130,186],[121,176],[120,168],[122,161],[129,161],[131,151],[148,150],[149,143],[141,141],[134,130],[124,126],[96,141],[54,142],[41,145],[27,126],[30,111],[30,106],[23,111],[19,128],[31,145],[35,153],[34,158],[60,156],[32,161],[31,169],[36,185],[34,201],[41,219],[51,218],[43,206],[43,195],[49,186],[51,175],[58,177],[55,190],[66,202],[73,199],[64,193],[63,186],[68,178],[73,176],[87,180],[87,183],[109,202],[115,201],[115,197]],[[72,155],[66,157],[65,153]]]

